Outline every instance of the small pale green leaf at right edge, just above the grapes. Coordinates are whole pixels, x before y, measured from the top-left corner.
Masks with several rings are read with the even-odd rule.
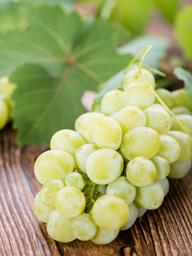
[[[179,80],[184,82],[185,89],[190,93],[192,98],[192,74],[182,67],[175,67],[173,73]]]

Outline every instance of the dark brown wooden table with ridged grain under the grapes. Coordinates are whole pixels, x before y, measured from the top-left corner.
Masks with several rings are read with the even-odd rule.
[[[192,255],[192,170],[183,179],[170,179],[161,207],[148,210],[112,243],[58,243],[33,213],[42,186],[33,165],[46,148],[17,146],[15,137],[10,125],[0,131],[0,256]]]

